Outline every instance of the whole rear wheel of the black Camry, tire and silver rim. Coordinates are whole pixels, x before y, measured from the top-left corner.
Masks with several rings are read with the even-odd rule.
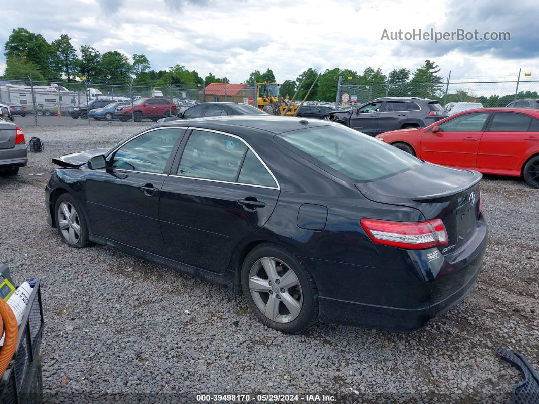
[[[318,317],[318,290],[305,265],[276,244],[252,250],[241,266],[241,289],[262,324],[294,334]]]

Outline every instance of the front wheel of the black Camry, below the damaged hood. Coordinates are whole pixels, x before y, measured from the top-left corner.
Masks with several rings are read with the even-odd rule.
[[[56,228],[64,243],[73,248],[85,248],[92,243],[88,240],[88,226],[82,208],[70,194],[62,194],[54,205]]]

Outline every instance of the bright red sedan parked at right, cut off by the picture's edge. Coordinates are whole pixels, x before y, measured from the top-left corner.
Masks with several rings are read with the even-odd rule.
[[[385,132],[376,138],[432,163],[523,176],[539,188],[539,110],[471,109],[424,128]]]

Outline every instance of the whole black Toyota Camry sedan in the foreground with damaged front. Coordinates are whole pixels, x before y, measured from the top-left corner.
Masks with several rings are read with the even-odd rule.
[[[289,117],[154,125],[53,159],[47,221],[243,291],[265,325],[411,330],[464,299],[487,244],[481,174]]]

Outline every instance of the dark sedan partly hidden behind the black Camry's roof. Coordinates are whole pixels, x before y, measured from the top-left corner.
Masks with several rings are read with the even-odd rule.
[[[167,118],[161,118],[157,121],[162,122],[177,121],[181,119],[194,119],[206,117],[227,117],[231,115],[267,115],[257,107],[248,104],[239,104],[238,102],[201,102],[190,108],[179,112],[177,115]]]

